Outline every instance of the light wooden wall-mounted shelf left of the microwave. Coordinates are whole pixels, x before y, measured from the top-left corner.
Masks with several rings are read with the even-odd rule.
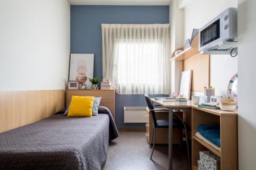
[[[177,56],[172,55],[172,58],[170,59],[170,61],[183,61],[190,57],[197,56],[199,54],[200,53],[198,51],[198,34],[197,34],[193,39],[191,46]]]

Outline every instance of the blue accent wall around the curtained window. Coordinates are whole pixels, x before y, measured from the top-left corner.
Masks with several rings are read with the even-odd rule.
[[[71,6],[71,53],[94,54],[94,77],[99,77],[100,80],[102,80],[101,23],[169,23],[169,6]],[[117,126],[145,126],[123,123],[123,107],[146,106],[143,95],[116,94],[115,102]]]

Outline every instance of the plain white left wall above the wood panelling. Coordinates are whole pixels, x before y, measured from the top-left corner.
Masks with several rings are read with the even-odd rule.
[[[0,90],[65,89],[67,0],[0,0]]]

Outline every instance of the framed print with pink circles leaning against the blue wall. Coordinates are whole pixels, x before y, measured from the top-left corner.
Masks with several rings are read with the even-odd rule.
[[[94,54],[71,54],[69,81],[78,81],[79,86],[91,87],[89,78],[93,78]]]

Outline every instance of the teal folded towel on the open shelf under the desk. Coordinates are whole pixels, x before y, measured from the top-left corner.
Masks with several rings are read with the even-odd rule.
[[[220,124],[198,125],[197,130],[203,137],[208,139],[210,142],[216,144],[218,147],[221,147]]]

